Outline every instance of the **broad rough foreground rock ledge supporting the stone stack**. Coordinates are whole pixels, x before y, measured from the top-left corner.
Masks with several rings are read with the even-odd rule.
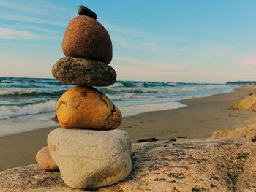
[[[98,191],[256,191],[256,146],[231,139],[132,145],[132,173]],[[0,173],[0,191],[81,191],[37,164]]]

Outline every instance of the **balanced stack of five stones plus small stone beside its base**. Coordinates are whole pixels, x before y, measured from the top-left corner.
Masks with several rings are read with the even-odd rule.
[[[53,66],[57,80],[78,86],[59,99],[61,128],[50,132],[48,147],[37,153],[37,162],[45,170],[59,168],[69,187],[98,188],[118,183],[131,172],[131,142],[127,132],[116,130],[121,112],[92,87],[116,82],[116,72],[108,66],[112,59],[108,31],[90,9],[79,6],[78,14],[64,34],[65,57]]]

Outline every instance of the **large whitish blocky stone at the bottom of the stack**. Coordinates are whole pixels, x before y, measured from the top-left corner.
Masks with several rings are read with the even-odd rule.
[[[58,128],[50,132],[47,142],[69,187],[113,185],[131,172],[131,140],[126,131]]]

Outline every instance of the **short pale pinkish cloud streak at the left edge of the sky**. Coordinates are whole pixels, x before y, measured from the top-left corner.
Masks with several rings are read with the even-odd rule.
[[[37,35],[27,31],[13,30],[12,28],[0,28],[0,38],[4,39],[36,39]]]

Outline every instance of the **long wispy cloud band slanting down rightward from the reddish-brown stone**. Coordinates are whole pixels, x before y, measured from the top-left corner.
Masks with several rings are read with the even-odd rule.
[[[116,26],[108,22],[104,22],[104,26],[110,31],[114,45],[124,47],[127,50],[160,53],[162,55],[181,55],[187,50],[197,50],[197,54],[200,53],[204,57],[225,55],[229,51],[226,47],[220,46],[218,42],[198,42],[173,34],[156,35],[151,34],[150,31]],[[209,44],[214,45],[216,48],[206,50]]]

